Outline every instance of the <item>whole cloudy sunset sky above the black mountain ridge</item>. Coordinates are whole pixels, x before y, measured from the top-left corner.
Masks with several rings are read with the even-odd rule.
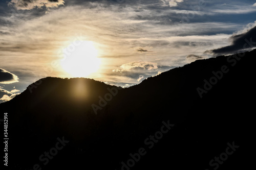
[[[1,0],[0,103],[45,77],[129,87],[252,50],[255,16],[248,0]]]

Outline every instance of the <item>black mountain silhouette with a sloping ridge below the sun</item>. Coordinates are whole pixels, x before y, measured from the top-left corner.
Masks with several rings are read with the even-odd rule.
[[[250,167],[255,56],[253,50],[197,60],[129,88],[85,78],[38,80],[0,104],[8,113],[8,168]],[[61,139],[63,148],[52,149]],[[54,156],[41,161],[49,151]]]

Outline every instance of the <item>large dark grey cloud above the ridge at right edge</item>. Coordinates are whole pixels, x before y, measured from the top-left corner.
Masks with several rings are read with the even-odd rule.
[[[244,52],[256,47],[256,27],[248,30],[246,33],[233,35],[230,37],[232,44],[215,50],[206,51],[205,53],[213,53],[215,55],[233,54]]]

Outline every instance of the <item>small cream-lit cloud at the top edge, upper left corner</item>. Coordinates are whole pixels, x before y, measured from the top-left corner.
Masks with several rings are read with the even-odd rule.
[[[9,6],[13,6],[17,10],[31,10],[33,8],[54,8],[64,5],[62,0],[11,0]]]

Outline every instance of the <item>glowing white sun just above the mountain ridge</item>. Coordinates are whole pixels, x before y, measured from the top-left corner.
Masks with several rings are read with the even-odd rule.
[[[69,44],[63,50],[60,65],[72,77],[87,77],[100,67],[98,50],[93,41],[79,41]]]

